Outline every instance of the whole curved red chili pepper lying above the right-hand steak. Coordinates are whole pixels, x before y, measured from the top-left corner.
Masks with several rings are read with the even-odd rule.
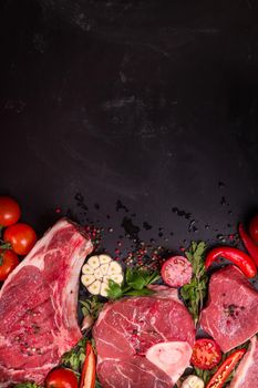
[[[257,275],[257,268],[252,259],[245,252],[230,246],[219,246],[211,249],[206,257],[205,267],[208,268],[220,257],[236,264],[247,277],[255,277]]]

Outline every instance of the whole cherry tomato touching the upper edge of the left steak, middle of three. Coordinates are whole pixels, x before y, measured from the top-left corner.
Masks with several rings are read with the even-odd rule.
[[[27,255],[37,242],[34,229],[27,224],[14,224],[3,233],[3,239],[11,244],[12,249],[21,256]]]

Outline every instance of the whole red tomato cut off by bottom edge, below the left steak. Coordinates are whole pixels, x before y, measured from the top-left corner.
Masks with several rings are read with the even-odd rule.
[[[78,388],[78,378],[70,369],[56,368],[47,376],[45,388]]]

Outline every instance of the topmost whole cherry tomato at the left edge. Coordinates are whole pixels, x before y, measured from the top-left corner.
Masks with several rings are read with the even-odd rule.
[[[16,224],[21,216],[21,210],[17,201],[10,196],[0,196],[0,225]]]

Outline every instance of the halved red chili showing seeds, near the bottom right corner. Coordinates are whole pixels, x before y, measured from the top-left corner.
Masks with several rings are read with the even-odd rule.
[[[228,376],[245,355],[246,349],[239,349],[230,354],[211,377],[206,388],[223,388]]]

